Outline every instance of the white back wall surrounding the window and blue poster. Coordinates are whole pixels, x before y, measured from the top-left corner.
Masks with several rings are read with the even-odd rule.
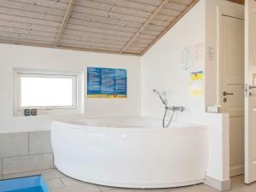
[[[140,114],[140,57],[0,44],[0,132],[50,129],[50,116],[13,116],[14,67],[84,72],[85,75],[86,67],[125,68],[128,98],[85,98],[84,113],[90,117]]]

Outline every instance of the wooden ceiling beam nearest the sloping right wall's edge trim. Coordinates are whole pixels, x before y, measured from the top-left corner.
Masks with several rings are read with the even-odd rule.
[[[129,47],[129,45],[137,38],[137,36],[143,32],[151,23],[152,20],[154,20],[154,17],[160,13],[160,11],[164,8],[166,3],[169,3],[170,0],[164,0],[162,3],[160,3],[160,6],[157,7],[157,9],[154,10],[153,14],[148,17],[148,20],[145,21],[143,26],[139,28],[139,30],[135,33],[135,35],[132,36],[132,38],[128,41],[127,44],[120,50],[120,53],[123,53],[125,49]]]

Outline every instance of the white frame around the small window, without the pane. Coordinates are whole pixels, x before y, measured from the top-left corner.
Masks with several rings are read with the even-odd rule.
[[[21,78],[61,78],[73,79],[73,104],[71,106],[30,106],[21,107]],[[14,115],[23,115],[24,109],[38,109],[40,114],[79,113],[79,73],[66,73],[46,70],[15,69],[14,70]]]

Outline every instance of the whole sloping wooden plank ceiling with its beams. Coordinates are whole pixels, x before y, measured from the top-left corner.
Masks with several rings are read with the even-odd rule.
[[[0,0],[0,43],[143,55],[198,1]]]

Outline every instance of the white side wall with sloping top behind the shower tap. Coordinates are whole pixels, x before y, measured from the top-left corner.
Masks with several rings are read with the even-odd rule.
[[[152,90],[165,90],[170,104],[183,105],[186,110],[179,119],[189,120],[204,113],[204,96],[189,95],[190,72],[204,70],[204,55],[194,67],[181,68],[182,49],[205,44],[205,2],[201,0],[177,25],[148,50],[142,58],[142,114],[160,118],[163,106]],[[184,119],[185,118],[185,119]]]

